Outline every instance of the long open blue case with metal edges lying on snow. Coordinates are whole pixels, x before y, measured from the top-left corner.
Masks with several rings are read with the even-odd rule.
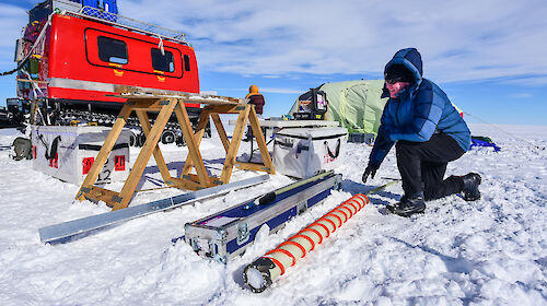
[[[216,214],[187,223],[184,239],[203,258],[225,263],[244,252],[260,227],[270,233],[338,189],[341,175],[327,172],[268,192]]]

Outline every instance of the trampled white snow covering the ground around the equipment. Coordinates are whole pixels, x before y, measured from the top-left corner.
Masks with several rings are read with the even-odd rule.
[[[502,151],[473,150],[449,165],[447,174],[482,175],[482,199],[457,196],[428,202],[424,214],[386,214],[403,190],[394,185],[372,204],[288,269],[261,294],[246,290],[242,270],[351,195],[398,177],[394,150],[376,178],[361,184],[371,148],[349,144],[342,191],[290,221],[276,235],[261,235],[226,266],[199,258],[171,239],[184,224],[291,180],[276,175],[264,184],[170,212],[137,219],[61,245],[39,243],[38,228],[107,212],[74,202],[78,186],[14,162],[5,146],[18,136],[0,130],[0,304],[1,305],[547,305],[547,127],[472,126]],[[213,174],[222,168],[218,138],[205,140],[203,158]],[[247,152],[243,143],[240,152]],[[187,150],[162,146],[173,174]],[[135,161],[137,150],[132,150]],[[152,158],[153,161],[153,158]],[[232,180],[255,176],[236,170]],[[161,176],[149,164],[142,189]],[[117,184],[110,189],[120,188]],[[141,192],[131,204],[181,193]]]

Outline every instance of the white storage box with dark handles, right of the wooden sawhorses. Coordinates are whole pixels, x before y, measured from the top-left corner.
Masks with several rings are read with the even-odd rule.
[[[344,163],[348,131],[340,127],[283,129],[274,141],[276,172],[309,178]]]

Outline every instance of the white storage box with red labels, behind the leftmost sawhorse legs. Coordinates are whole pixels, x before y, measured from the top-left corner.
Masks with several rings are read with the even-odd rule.
[[[110,128],[32,127],[33,168],[80,186],[98,155]],[[129,134],[121,131],[96,184],[124,180],[129,175]]]

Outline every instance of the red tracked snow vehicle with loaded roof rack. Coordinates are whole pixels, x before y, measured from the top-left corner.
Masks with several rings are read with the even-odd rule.
[[[116,92],[199,94],[196,55],[183,33],[117,15],[115,0],[82,2],[93,1],[37,4],[18,40],[18,97],[39,102],[38,120],[108,126],[125,102],[109,96]],[[186,107],[197,120],[200,106]],[[164,142],[175,140],[168,129]]]

